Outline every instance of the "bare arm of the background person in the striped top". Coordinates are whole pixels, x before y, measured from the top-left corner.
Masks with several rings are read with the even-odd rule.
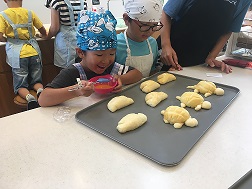
[[[47,35],[47,39],[51,39],[53,36],[56,36],[59,29],[60,29],[59,12],[51,8],[51,26]]]

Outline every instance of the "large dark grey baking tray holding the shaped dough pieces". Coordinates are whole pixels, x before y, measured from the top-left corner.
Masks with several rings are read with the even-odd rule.
[[[224,96],[211,95],[205,98],[212,104],[210,110],[201,109],[196,112],[194,109],[186,108],[190,115],[198,120],[199,125],[194,128],[183,126],[181,129],[175,129],[173,125],[164,123],[163,116],[160,113],[161,110],[165,110],[170,105],[180,106],[180,101],[176,99],[176,96],[181,96],[185,91],[192,91],[186,87],[196,85],[201,80],[174,74],[177,78],[175,81],[161,85],[159,89],[155,90],[167,93],[168,98],[152,108],[145,103],[146,93],[142,92],[139,86],[148,79],[157,81],[157,76],[162,73],[156,73],[120,93],[113,94],[77,112],[75,115],[76,120],[158,164],[164,166],[179,164],[195,143],[236,98],[240,90],[232,86],[215,83],[217,87],[224,89],[225,94]],[[107,103],[111,98],[119,95],[132,98],[134,104],[112,113],[107,109]],[[139,112],[144,113],[148,118],[143,126],[124,134],[117,131],[117,123],[122,117],[129,113]]]

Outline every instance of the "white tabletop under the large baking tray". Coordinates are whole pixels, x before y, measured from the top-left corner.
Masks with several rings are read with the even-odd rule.
[[[223,77],[204,66],[175,72],[239,88],[241,93],[182,162],[161,166],[75,121],[53,119],[58,107],[0,119],[0,188],[224,189],[252,168],[252,70],[233,68]],[[101,99],[63,104],[75,114]]]

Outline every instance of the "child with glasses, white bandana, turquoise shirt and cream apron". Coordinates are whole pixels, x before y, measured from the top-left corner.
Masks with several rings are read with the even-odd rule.
[[[123,19],[128,28],[117,35],[116,62],[138,69],[144,77],[156,69],[158,45],[151,35],[163,27],[162,6],[162,0],[124,1]]]

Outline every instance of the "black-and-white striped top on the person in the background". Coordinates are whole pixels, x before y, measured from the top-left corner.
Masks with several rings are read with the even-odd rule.
[[[70,0],[72,6],[80,6],[80,0]],[[71,26],[68,6],[64,0],[46,0],[45,6],[53,8],[59,12],[60,23],[65,26]],[[84,9],[87,9],[86,0],[84,0]],[[80,10],[74,10],[74,19],[77,23]],[[76,24],[77,25],[77,24]]]

